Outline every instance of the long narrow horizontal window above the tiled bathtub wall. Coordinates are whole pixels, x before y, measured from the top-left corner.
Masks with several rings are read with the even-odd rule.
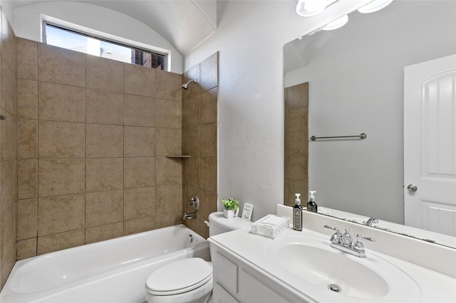
[[[166,70],[166,55],[126,46],[115,41],[78,33],[77,31],[45,23],[46,44],[76,50],[81,53],[98,55],[103,58],[133,63],[148,68]]]

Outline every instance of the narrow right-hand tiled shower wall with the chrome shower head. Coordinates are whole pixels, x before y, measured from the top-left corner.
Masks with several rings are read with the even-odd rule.
[[[190,155],[183,160],[183,210],[192,213],[188,201],[199,197],[197,219],[185,220],[185,225],[207,238],[209,228],[204,220],[217,211],[218,53],[187,70],[184,82],[190,79],[198,83],[190,83],[182,98],[182,152]]]

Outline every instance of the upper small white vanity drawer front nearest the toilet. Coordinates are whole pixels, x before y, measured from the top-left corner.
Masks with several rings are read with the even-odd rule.
[[[214,266],[214,277],[228,292],[237,294],[237,265],[231,260],[224,257],[219,252],[212,256]]]

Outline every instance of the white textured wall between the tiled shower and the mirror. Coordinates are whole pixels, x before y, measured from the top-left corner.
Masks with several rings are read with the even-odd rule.
[[[217,32],[185,56],[184,70],[219,51],[219,200],[254,203],[252,220],[284,196],[284,44],[368,1],[296,15],[297,1],[219,1]]]

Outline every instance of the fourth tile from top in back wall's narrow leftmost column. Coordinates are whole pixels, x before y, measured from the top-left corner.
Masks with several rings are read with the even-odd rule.
[[[36,198],[38,196],[38,160],[18,161],[18,198]]]

